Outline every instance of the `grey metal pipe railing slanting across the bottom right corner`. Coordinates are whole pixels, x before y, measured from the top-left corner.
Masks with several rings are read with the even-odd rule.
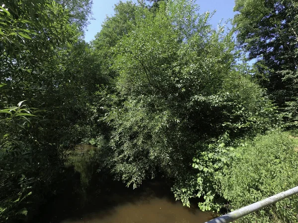
[[[268,197],[262,201],[258,201],[256,203],[253,203],[251,205],[248,205],[246,207],[240,208],[236,211],[233,211],[231,213],[228,213],[226,215],[223,215],[221,217],[218,217],[216,219],[213,219],[209,222],[206,223],[229,223],[229,222],[233,222],[243,216],[249,215],[253,212],[256,212],[262,208],[265,208],[271,204],[274,204],[280,200],[283,200],[287,197],[290,197],[294,194],[298,194],[298,186],[294,187],[290,190],[286,190],[284,192],[281,192],[279,194],[276,194],[272,197]]]

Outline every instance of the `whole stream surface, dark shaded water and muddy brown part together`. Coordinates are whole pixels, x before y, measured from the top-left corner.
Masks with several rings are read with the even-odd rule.
[[[78,150],[73,161],[79,161],[77,156],[82,163],[90,161],[84,154],[90,151],[93,148]],[[73,165],[80,173],[74,175],[81,182],[80,189],[74,189],[72,182],[65,185],[68,190],[44,205],[32,223],[204,223],[212,219],[195,208],[196,204],[186,208],[176,202],[169,185],[161,179],[144,182],[133,190],[121,182],[103,180],[94,167]]]

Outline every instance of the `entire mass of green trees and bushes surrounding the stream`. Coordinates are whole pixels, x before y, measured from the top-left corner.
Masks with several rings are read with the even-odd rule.
[[[297,127],[295,1],[236,0],[238,47],[192,0],[120,1],[88,44],[91,4],[0,7],[0,221],[59,193],[71,165],[83,189],[95,163],[134,188],[162,176],[203,211],[297,185],[295,143],[272,131]],[[78,159],[81,142],[100,149]],[[241,221],[294,223],[297,207],[293,197]]]

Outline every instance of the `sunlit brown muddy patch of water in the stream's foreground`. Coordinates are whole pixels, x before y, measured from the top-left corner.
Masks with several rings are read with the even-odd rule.
[[[183,207],[167,196],[158,196],[151,186],[146,192],[114,194],[110,197],[112,206],[62,223],[205,223],[212,219],[207,213]]]

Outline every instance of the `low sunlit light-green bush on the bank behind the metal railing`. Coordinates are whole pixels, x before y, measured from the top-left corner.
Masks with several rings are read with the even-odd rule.
[[[298,185],[298,154],[288,132],[257,136],[235,149],[236,157],[224,168],[222,195],[236,210]],[[294,195],[238,222],[297,223],[298,196]]]

